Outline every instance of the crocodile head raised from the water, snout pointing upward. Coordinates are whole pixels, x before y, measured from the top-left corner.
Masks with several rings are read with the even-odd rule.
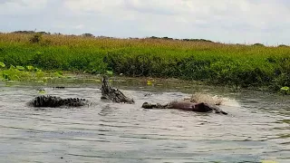
[[[111,88],[108,77],[102,77],[102,97],[101,99],[110,100],[117,103],[134,103],[134,100],[126,97],[121,91],[118,89]]]

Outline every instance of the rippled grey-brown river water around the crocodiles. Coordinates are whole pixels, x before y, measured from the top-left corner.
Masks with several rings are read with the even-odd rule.
[[[91,106],[37,110],[26,102],[38,86],[0,82],[0,162],[290,162],[289,96],[134,83],[114,86],[135,104],[101,101],[101,83],[70,82],[63,90],[45,87],[46,94]],[[140,108],[197,91],[227,98],[220,108],[228,115]]]

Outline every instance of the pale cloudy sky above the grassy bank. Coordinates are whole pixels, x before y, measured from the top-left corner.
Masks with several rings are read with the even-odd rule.
[[[290,44],[289,0],[0,0],[0,32]]]

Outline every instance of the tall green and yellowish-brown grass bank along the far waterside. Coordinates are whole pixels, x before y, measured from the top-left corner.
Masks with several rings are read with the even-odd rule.
[[[0,34],[0,62],[43,70],[175,77],[273,91],[290,86],[287,46]]]

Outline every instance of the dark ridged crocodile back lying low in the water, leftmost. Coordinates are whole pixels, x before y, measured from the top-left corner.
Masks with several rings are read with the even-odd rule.
[[[79,98],[62,99],[56,96],[37,96],[33,101],[28,102],[29,106],[33,107],[80,107],[89,105],[89,101]]]

